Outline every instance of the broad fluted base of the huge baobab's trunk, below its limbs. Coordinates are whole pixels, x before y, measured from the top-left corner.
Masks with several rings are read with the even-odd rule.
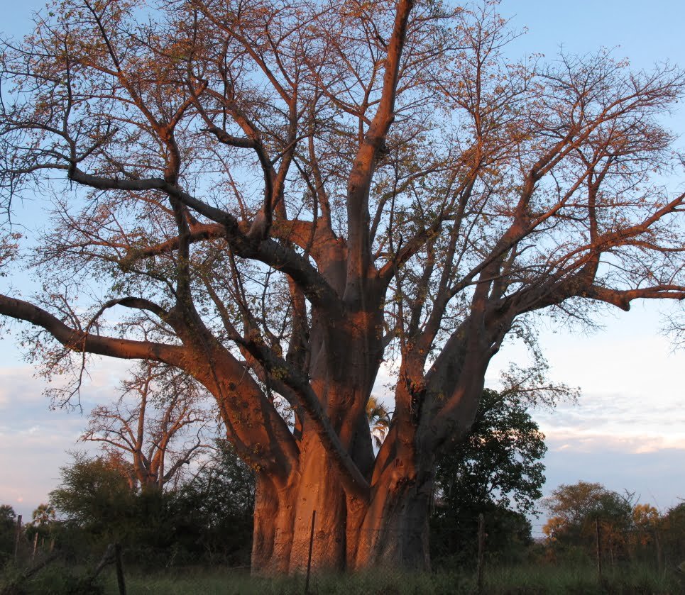
[[[314,438],[298,482],[285,491],[275,493],[268,479],[258,475],[253,572],[305,572],[313,511],[312,568],[429,569],[430,479],[407,477],[395,461],[373,487],[371,501],[360,502],[346,498],[328,459]]]

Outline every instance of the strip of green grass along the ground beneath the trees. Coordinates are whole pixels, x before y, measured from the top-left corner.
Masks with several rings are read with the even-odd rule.
[[[5,577],[5,584],[9,577]],[[118,595],[114,567],[94,585],[84,586],[82,569],[51,565],[23,583],[22,595]],[[356,574],[313,574],[309,593],[317,595],[473,595],[473,572],[406,573],[378,569]],[[0,592],[2,591],[0,583]],[[129,595],[302,595],[304,577],[261,579],[246,571],[217,567],[175,568],[164,572],[126,569]],[[675,569],[659,574],[632,564],[607,569],[598,581],[592,565],[486,567],[483,595],[680,595],[685,582]]]

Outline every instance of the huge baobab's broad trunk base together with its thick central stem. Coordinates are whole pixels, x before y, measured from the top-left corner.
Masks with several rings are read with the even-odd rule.
[[[371,450],[365,405],[383,351],[381,296],[366,294],[364,311],[325,320],[312,331],[319,349],[311,361],[311,386],[370,490],[366,498],[346,490],[334,455],[305,418],[290,473],[277,485],[269,472],[257,471],[255,573],[306,571],[314,511],[314,569],[429,568],[433,457],[419,460],[411,416],[395,416],[378,459]],[[405,443],[390,447],[400,433]]]

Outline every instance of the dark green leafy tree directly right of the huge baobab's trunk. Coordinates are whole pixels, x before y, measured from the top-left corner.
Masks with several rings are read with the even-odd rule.
[[[488,552],[511,555],[531,542],[526,514],[542,496],[547,451],[523,391],[485,389],[466,440],[439,460],[432,549],[473,560],[478,514],[486,517]]]

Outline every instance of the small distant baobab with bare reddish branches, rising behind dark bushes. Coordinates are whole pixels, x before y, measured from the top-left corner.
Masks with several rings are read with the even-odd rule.
[[[100,443],[106,452],[126,460],[133,486],[143,491],[177,484],[185,465],[210,446],[207,394],[187,374],[149,360],[121,388],[114,405],[100,405],[89,413],[80,440]]]

